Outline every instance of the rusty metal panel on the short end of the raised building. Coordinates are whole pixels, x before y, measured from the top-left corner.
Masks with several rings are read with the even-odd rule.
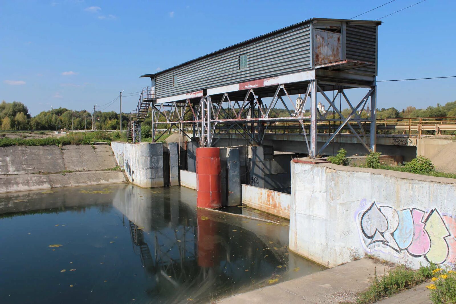
[[[336,62],[342,59],[340,33],[315,29],[313,42],[315,65]]]

